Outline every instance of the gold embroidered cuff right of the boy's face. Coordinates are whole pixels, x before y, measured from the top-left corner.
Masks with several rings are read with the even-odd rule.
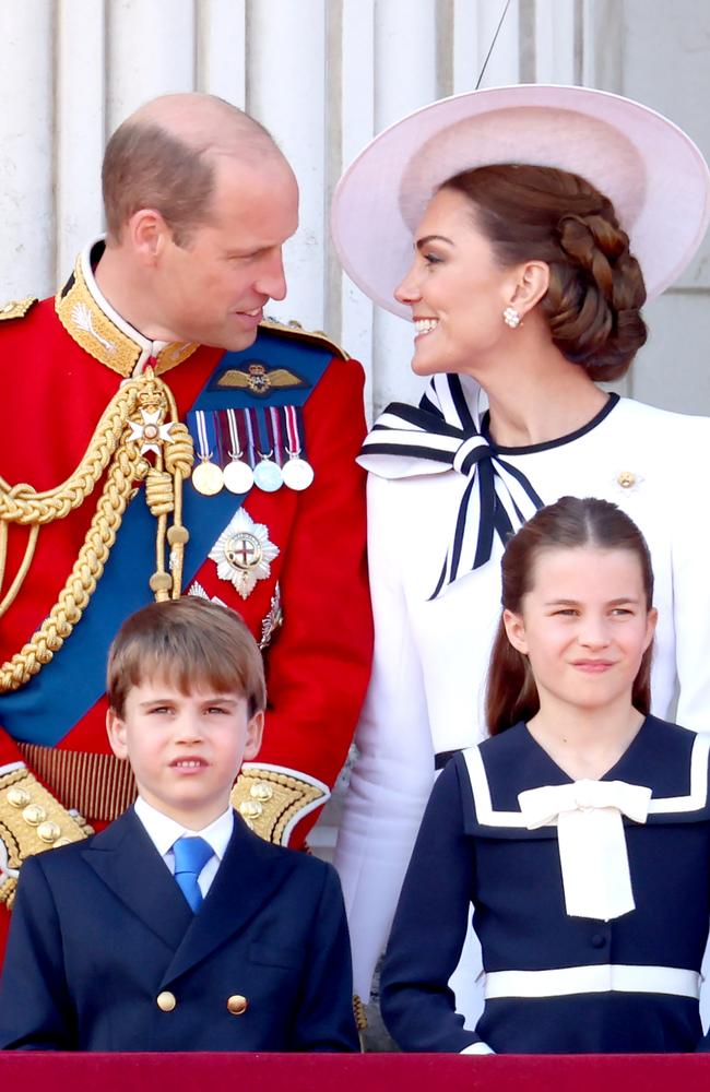
[[[230,799],[256,834],[283,845],[298,812],[311,810],[317,800],[324,804],[327,793],[300,778],[250,767],[237,778]]]

